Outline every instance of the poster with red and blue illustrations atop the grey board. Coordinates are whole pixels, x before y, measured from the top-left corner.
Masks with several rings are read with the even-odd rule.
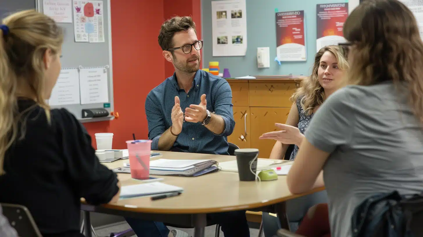
[[[103,1],[74,0],[75,42],[104,42]]]

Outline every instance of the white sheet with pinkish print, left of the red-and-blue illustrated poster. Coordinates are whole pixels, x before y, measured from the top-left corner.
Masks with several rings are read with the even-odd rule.
[[[71,0],[43,0],[43,13],[58,23],[72,23]]]

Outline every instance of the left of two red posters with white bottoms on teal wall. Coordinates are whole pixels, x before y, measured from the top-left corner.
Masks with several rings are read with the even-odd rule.
[[[276,55],[279,61],[306,61],[304,11],[276,13]]]

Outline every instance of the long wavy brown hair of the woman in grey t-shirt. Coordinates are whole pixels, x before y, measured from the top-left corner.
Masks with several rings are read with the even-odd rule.
[[[397,0],[366,0],[352,11],[343,34],[352,44],[349,83],[406,85],[413,113],[423,123],[423,43],[412,12]]]

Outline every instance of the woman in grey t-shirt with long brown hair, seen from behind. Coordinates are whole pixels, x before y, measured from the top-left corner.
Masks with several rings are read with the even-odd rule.
[[[412,12],[397,0],[366,0],[343,34],[352,85],[314,114],[287,177],[292,193],[325,185],[333,237],[352,236],[365,198],[423,192],[423,43]]]

